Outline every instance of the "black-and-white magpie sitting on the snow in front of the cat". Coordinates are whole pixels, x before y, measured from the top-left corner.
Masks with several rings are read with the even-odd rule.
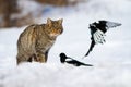
[[[84,66],[93,66],[92,64],[85,64],[85,63],[82,63],[78,60],[74,60],[70,57],[67,57],[66,53],[60,53],[60,62],[61,63],[68,63],[68,64],[73,64],[75,66],[81,66],[81,65],[84,65]]]

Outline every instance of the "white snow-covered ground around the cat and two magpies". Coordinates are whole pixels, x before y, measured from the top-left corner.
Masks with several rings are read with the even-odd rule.
[[[64,32],[46,64],[16,66],[16,41],[26,26],[0,29],[0,87],[131,87],[131,0],[88,0],[75,8],[48,8],[38,23],[62,17]],[[98,20],[122,25],[108,30],[106,44],[97,45],[81,59],[91,42],[88,24]],[[60,52],[94,66],[61,64]]]

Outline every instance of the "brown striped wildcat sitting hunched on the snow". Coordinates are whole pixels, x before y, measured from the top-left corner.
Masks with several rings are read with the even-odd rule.
[[[47,18],[46,24],[33,24],[26,27],[17,40],[17,64],[32,61],[46,63],[57,36],[63,32],[62,22],[62,18],[57,21]]]

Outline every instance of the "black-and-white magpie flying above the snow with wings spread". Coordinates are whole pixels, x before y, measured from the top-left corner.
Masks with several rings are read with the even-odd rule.
[[[98,21],[98,22],[94,22],[92,24],[90,24],[90,29],[91,29],[91,47],[87,51],[87,53],[85,54],[85,57],[87,57],[90,54],[90,52],[93,50],[94,46],[97,44],[104,44],[105,40],[105,33],[109,29],[109,28],[114,28],[117,26],[120,26],[120,23],[115,23],[115,22],[109,22],[109,21]]]

